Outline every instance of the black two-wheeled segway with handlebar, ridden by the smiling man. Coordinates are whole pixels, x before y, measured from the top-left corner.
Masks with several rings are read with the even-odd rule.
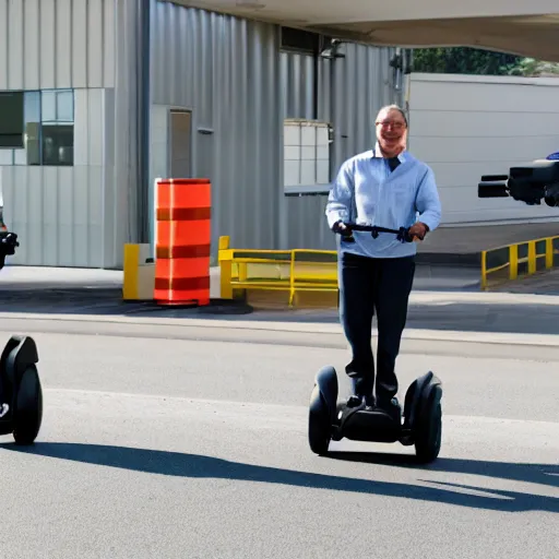
[[[373,238],[379,233],[396,234],[401,242],[412,242],[413,237],[405,227],[384,227],[345,224],[341,233],[345,241],[355,241],[353,230],[370,231]],[[337,373],[333,367],[323,367],[314,379],[310,397],[308,438],[312,452],[328,453],[330,441],[343,438],[369,442],[396,442],[409,447],[415,444],[416,456],[428,463],[437,459],[442,435],[442,384],[431,372],[416,379],[407,389],[404,400],[403,420],[377,406],[365,403],[348,407],[338,402]]]

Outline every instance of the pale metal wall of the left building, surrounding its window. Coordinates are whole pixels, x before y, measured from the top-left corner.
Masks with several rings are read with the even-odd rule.
[[[0,0],[0,90],[75,90],[72,167],[0,150],[11,264],[110,267],[138,237],[138,1]]]

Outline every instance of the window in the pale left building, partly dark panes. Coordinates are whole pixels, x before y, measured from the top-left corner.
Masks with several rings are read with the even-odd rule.
[[[73,90],[0,92],[0,123],[2,164],[73,165]]]

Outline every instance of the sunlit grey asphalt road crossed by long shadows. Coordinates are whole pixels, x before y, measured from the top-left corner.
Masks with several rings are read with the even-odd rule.
[[[2,557],[559,557],[555,336],[408,336],[402,396],[444,383],[419,467],[397,443],[308,449],[313,374],[346,359],[332,324],[3,314],[12,332],[37,341],[45,419],[0,444]]]

